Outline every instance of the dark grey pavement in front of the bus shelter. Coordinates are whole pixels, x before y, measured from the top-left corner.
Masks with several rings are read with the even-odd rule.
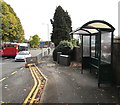
[[[46,76],[47,83],[41,103],[118,103],[118,91],[110,85],[98,88],[97,78],[88,70],[81,74],[80,65],[62,66],[45,56],[38,68]]]

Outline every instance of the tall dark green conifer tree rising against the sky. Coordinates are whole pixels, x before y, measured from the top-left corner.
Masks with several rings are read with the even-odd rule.
[[[55,10],[53,20],[51,19],[53,26],[51,41],[57,46],[62,40],[70,40],[69,33],[71,32],[71,19],[68,12],[65,12],[61,6],[58,6]]]

